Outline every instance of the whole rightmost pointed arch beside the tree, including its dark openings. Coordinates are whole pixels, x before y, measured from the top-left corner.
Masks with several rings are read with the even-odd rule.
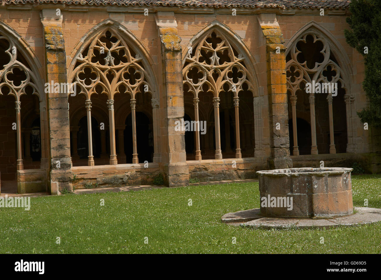
[[[296,32],[286,47],[287,92],[290,96],[289,110],[293,122],[293,143],[290,146],[293,146],[293,155],[299,155],[296,111],[302,110],[301,102],[306,103],[307,97],[311,119],[311,154],[318,154],[319,150],[335,154],[335,141],[339,141],[340,147],[345,141],[344,150],[349,150],[352,143],[353,75],[349,67],[349,57],[343,47],[327,29],[314,21]],[[315,94],[315,84],[321,85],[322,93],[317,88],[317,95]],[[337,92],[334,93],[330,85],[337,86]],[[314,87],[314,90],[307,91],[307,86]],[[322,96],[326,93],[327,97],[324,98],[327,101],[324,101]],[[316,113],[315,99],[319,107]],[[338,116],[343,114],[347,116],[346,122],[338,123],[341,120]],[[317,128],[321,131],[318,137]],[[340,148],[339,152],[345,151]]]

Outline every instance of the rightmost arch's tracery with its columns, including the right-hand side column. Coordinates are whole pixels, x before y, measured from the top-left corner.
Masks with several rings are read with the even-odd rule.
[[[306,93],[306,84],[337,83],[338,88],[345,90],[344,102],[346,106],[347,126],[347,151],[352,148],[352,109],[353,101],[351,93],[348,92],[350,85],[347,84],[348,73],[338,63],[334,52],[331,50],[333,44],[329,44],[327,38],[316,30],[307,30],[300,35],[288,48],[286,56],[287,91],[290,93],[290,103],[293,122],[293,155],[299,155],[296,104],[298,97],[296,92]],[[335,51],[339,54],[339,51]],[[323,86],[321,87],[323,89]],[[325,92],[327,93],[327,92]],[[322,94],[318,93],[317,94]],[[330,153],[336,153],[333,127],[333,95],[327,93],[330,127]],[[338,98],[338,97],[336,97]],[[308,96],[311,118],[311,154],[317,154],[316,119],[315,119],[315,94],[311,92]],[[290,145],[291,147],[291,145]]]

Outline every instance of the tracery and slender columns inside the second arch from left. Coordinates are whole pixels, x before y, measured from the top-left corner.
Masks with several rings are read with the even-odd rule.
[[[125,41],[123,36],[112,28],[99,32],[91,41],[85,43],[84,48],[74,57],[74,69],[69,76],[69,81],[75,85],[76,93],[86,97],[84,107],[87,111],[88,123],[88,165],[94,165],[92,134],[91,134],[91,95],[106,94],[107,107],[109,111],[110,129],[110,164],[118,163],[115,143],[115,116],[114,96],[117,93],[130,95],[130,107],[133,127],[133,163],[138,163],[137,138],[136,138],[136,106],[139,104],[138,94],[150,94],[154,96],[154,77],[149,75],[145,68],[145,58],[139,55]],[[72,92],[69,92],[71,95]],[[152,107],[157,109],[156,99],[151,99]],[[154,115],[154,114],[153,114]],[[155,120],[154,120],[155,122]],[[157,122],[157,121],[156,121]],[[156,126],[158,124],[156,123]],[[158,135],[158,128],[154,127],[154,137]],[[120,138],[120,137],[119,137]],[[155,142],[155,153],[158,153],[157,140]],[[119,142],[119,146],[123,146]],[[123,152],[120,152],[123,154]],[[157,157],[157,156],[156,156]],[[155,156],[154,156],[155,158]],[[123,159],[124,160],[124,159]]]

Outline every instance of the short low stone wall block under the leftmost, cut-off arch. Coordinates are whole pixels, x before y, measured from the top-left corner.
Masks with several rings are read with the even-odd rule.
[[[17,192],[27,194],[47,191],[47,173],[45,169],[17,170]]]

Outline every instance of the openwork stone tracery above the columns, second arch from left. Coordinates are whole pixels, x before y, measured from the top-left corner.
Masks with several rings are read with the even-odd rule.
[[[147,92],[152,94],[146,81],[147,72],[142,67],[142,57],[112,30],[100,33],[78,55],[76,62],[72,82],[79,86],[79,93],[85,94],[87,99],[94,93],[105,93],[113,99],[121,88],[134,99],[144,85],[148,85]]]

